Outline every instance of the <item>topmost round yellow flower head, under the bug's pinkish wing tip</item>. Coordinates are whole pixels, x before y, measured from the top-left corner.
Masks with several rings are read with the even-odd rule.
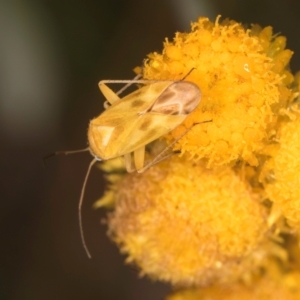
[[[202,92],[199,107],[169,136],[178,139],[194,125],[175,149],[196,161],[207,158],[209,165],[239,159],[257,165],[276,113],[290,97],[285,85],[293,78],[286,70],[292,52],[284,48],[285,38],[272,37],[271,27],[246,30],[234,21],[199,18],[190,33],[166,40],[162,54],[150,54],[144,78],[180,80],[194,69],[185,80]]]

